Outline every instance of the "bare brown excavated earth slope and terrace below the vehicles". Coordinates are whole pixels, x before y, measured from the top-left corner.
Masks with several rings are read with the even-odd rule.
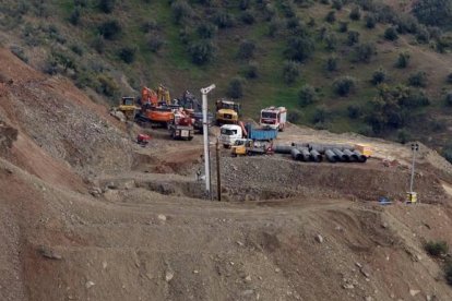
[[[450,165],[435,152],[423,147],[423,204],[407,206],[407,147],[290,127],[278,143],[366,142],[374,159],[223,150],[229,202],[210,202],[194,177],[200,136],[150,130],[151,145],[139,147],[64,80],[7,51],[0,63],[13,80],[0,83],[0,118],[17,130],[0,158],[0,300],[452,299],[423,250],[425,240],[452,242]]]

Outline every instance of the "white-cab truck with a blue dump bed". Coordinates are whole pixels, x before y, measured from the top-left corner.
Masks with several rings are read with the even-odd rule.
[[[273,141],[277,137],[276,130],[253,129],[250,123],[224,124],[219,129],[219,142],[225,148],[229,148],[239,139],[249,139],[252,141]]]

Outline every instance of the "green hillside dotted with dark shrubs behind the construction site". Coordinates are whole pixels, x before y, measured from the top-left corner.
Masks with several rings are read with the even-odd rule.
[[[252,118],[282,105],[295,123],[443,147],[450,4],[2,1],[0,25],[22,60],[112,103],[142,85],[164,83],[177,97],[215,83],[214,97],[238,98]]]

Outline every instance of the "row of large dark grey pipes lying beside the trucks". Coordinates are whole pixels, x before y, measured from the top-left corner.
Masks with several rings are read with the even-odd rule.
[[[277,154],[290,155],[299,161],[322,161],[323,157],[330,162],[365,162],[367,157],[346,144],[310,144],[293,143],[292,145],[276,145]]]

